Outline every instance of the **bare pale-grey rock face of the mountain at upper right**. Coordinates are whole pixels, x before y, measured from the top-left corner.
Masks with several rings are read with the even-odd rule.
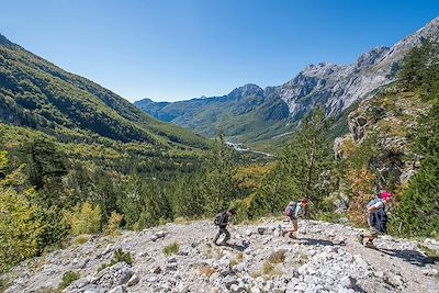
[[[395,81],[404,56],[425,40],[437,40],[438,32],[439,18],[391,48],[372,48],[351,65],[309,65],[294,79],[275,88],[277,93],[289,105],[293,120],[309,112],[317,103],[325,106],[328,115],[338,114]]]

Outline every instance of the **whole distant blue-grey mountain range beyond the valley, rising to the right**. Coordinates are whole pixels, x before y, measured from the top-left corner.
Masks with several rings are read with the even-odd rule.
[[[222,97],[177,102],[143,99],[134,104],[158,120],[206,137],[223,129],[234,143],[257,148],[282,145],[317,104],[325,108],[327,115],[340,119],[357,101],[394,82],[406,53],[426,40],[437,38],[438,32],[439,18],[390,48],[372,48],[350,65],[309,65],[278,87],[245,84]]]

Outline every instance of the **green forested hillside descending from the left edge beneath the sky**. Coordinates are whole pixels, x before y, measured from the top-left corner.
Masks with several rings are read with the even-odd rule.
[[[0,121],[66,139],[99,135],[123,143],[206,146],[200,136],[149,117],[117,94],[64,71],[2,35]]]

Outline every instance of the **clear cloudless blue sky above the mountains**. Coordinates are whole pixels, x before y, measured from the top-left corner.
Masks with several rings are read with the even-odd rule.
[[[350,64],[438,15],[437,0],[2,0],[0,33],[130,101],[175,101]]]

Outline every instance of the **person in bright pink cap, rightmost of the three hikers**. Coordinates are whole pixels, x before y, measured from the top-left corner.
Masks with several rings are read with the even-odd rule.
[[[392,200],[392,194],[382,192],[380,196],[371,200],[367,206],[369,232],[358,236],[360,244],[369,248],[375,248],[373,239],[378,238],[379,234],[385,234],[387,229],[387,213],[386,203]]]

